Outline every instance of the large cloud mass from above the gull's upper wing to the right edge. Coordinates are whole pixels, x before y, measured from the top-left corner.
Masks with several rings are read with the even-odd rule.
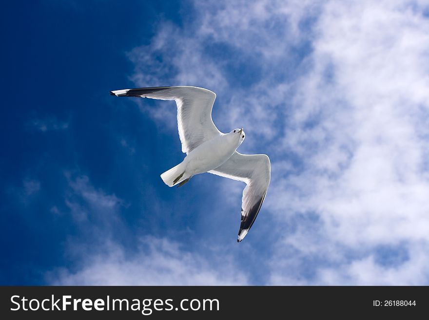
[[[162,24],[130,53],[133,79],[214,90],[216,125],[240,122],[240,150],[271,156],[263,214],[279,231],[269,283],[429,283],[427,4],[198,1],[195,10],[183,30]],[[230,77],[240,63],[256,68],[250,83]],[[163,104],[152,115],[171,123],[176,111]],[[374,258],[400,243],[408,260]]]

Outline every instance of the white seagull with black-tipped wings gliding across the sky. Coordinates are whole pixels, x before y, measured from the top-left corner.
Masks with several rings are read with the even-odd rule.
[[[212,120],[216,94],[191,86],[123,89],[110,92],[160,100],[175,100],[177,127],[185,159],[161,174],[169,186],[181,187],[195,174],[210,172],[246,183],[241,205],[241,224],[237,242],[253,226],[267,194],[271,179],[270,158],[266,154],[241,154],[236,149],[244,141],[243,128],[220,132]]]

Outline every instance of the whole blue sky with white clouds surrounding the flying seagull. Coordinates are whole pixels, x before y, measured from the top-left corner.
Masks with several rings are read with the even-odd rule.
[[[428,284],[423,1],[32,1],[2,10],[2,284]],[[193,85],[272,183],[183,188],[171,101]]]

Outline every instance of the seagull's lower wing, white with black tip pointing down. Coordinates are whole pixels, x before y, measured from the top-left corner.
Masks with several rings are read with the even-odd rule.
[[[265,154],[241,154],[235,151],[225,163],[209,172],[243,181],[247,185],[241,200],[241,225],[237,239],[240,242],[252,227],[267,194],[271,179],[270,158]]]

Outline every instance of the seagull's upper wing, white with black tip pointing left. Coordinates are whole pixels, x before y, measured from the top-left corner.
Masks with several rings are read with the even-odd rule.
[[[212,120],[212,108],[216,94],[210,90],[189,87],[153,87],[111,91],[117,96],[134,96],[160,100],[175,100],[177,105],[177,127],[182,152],[189,153],[201,143],[221,132]]]

